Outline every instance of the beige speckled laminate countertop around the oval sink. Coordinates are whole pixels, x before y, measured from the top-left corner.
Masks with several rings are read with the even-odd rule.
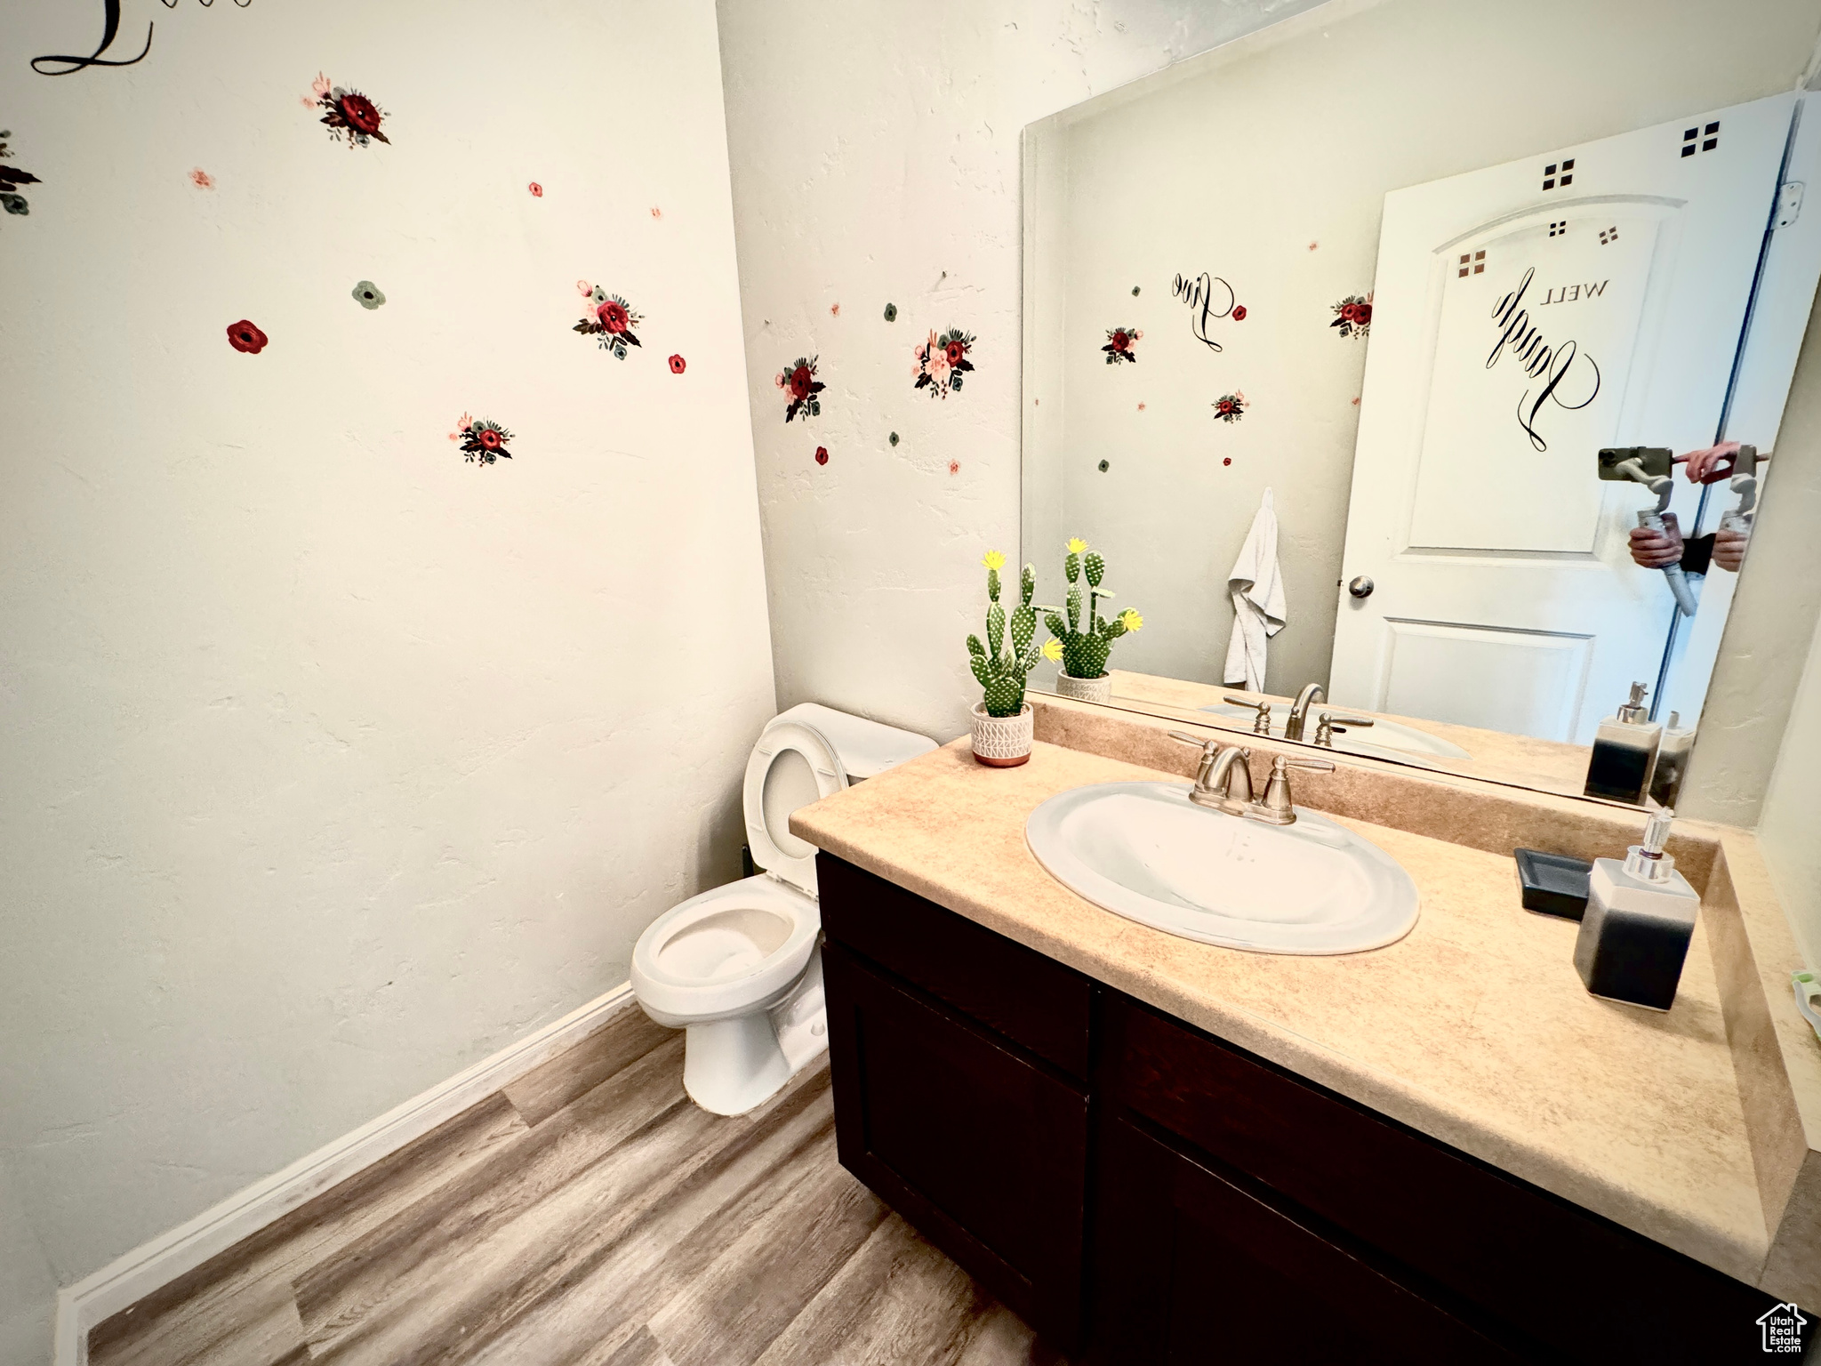
[[[1575,973],[1577,925],[1524,911],[1508,856],[1342,820],[1415,880],[1422,912],[1404,940],[1328,958],[1195,943],[1082,900],[1025,845],[1025,818],[1043,800],[1133,780],[1182,781],[1042,741],[1031,763],[987,769],[963,738],[803,807],[790,829],[1098,982],[1755,1282],[1768,1235],[1704,925],[1672,1011],[1606,1002]]]

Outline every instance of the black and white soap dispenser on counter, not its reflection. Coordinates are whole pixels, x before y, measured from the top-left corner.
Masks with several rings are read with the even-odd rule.
[[[1653,812],[1644,823],[1644,843],[1632,845],[1623,863],[1593,860],[1575,969],[1595,996],[1653,1011],[1675,1002],[1701,898],[1663,852],[1673,816]]]

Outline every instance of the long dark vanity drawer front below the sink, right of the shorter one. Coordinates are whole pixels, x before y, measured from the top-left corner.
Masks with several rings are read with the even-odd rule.
[[[1770,1295],[1125,996],[1107,993],[1104,1020],[1111,1102],[1570,1361],[1757,1350]]]

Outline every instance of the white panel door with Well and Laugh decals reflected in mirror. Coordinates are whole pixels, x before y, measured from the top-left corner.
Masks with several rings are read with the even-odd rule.
[[[1655,681],[1655,499],[1595,457],[1714,441],[1794,98],[1386,195],[1337,703],[1588,743]]]

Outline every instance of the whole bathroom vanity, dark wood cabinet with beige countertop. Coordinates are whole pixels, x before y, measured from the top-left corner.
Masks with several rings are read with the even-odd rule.
[[[1043,743],[987,772],[951,747],[794,829],[823,849],[841,1162],[1056,1348],[1761,1355],[1757,1317],[1797,1290],[1765,1284],[1706,938],[1668,1014],[1597,1002],[1508,858],[1348,821],[1415,876],[1409,938],[1191,943],[1022,847],[1058,790],[1173,774]]]

